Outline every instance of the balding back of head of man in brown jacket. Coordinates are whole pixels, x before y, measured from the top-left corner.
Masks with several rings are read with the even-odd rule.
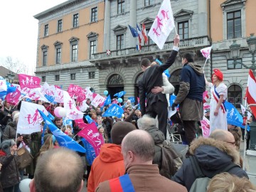
[[[144,130],[129,132],[122,141],[122,154],[127,154],[128,151],[132,151],[138,161],[152,161],[155,154],[154,140]]]

